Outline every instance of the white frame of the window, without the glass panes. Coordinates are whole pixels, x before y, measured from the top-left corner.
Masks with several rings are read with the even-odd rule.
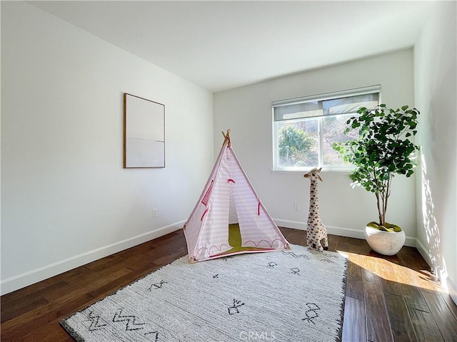
[[[275,108],[281,107],[284,105],[297,105],[301,103],[308,103],[311,101],[326,101],[326,100],[335,100],[338,98],[348,98],[354,97],[357,95],[366,95],[371,93],[378,93],[378,105],[381,104],[381,85],[368,86],[363,88],[353,88],[348,90],[340,90],[332,93],[321,93],[316,95],[308,95],[300,98],[290,98],[286,100],[276,100],[271,103],[271,115],[272,115],[272,136],[273,136],[273,168],[272,172],[303,172],[311,170],[313,167],[323,167],[323,170],[327,171],[343,171],[349,172],[353,170],[353,165],[323,165],[323,118],[330,117],[331,115],[317,115],[312,118],[318,118],[318,165],[313,166],[288,166],[288,167],[279,167],[279,146],[278,146],[278,123],[281,123],[285,120],[276,120],[275,118]],[[346,115],[346,114],[343,114]],[[332,115],[333,116],[333,115]],[[296,118],[289,119],[287,121],[302,121],[306,118]]]

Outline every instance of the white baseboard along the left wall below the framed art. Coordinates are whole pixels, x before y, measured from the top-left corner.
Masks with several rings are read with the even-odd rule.
[[[11,276],[10,278],[4,279],[0,282],[0,293],[1,295],[8,294],[9,292],[22,289],[25,286],[35,284],[44,279],[51,278],[57,274],[64,273],[76,267],[88,264],[89,262],[96,261],[98,259],[108,257],[111,254],[124,251],[131,247],[135,247],[144,242],[148,242],[152,239],[156,239],[163,235],[175,232],[183,227],[184,221],[170,224],[166,227],[161,227],[152,232],[140,234],[136,237],[109,244],[104,247],[93,249],[89,252],[85,252],[74,257],[57,261],[54,264],[49,264],[39,269],[33,269],[31,271],[24,272],[17,276]]]

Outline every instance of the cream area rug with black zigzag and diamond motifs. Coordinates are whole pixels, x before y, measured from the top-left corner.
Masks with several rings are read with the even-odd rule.
[[[61,321],[76,341],[341,341],[347,259],[291,245],[182,257]]]

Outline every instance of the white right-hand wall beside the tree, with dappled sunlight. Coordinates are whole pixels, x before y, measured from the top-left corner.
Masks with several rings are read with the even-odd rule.
[[[418,249],[457,304],[456,1],[436,1],[414,48],[418,142]]]

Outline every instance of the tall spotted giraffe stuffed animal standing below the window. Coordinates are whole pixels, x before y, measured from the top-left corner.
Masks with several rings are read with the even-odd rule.
[[[306,172],[303,177],[311,180],[311,187],[309,188],[309,214],[308,214],[308,232],[306,233],[306,242],[308,248],[323,251],[328,249],[327,229],[319,217],[319,197],[318,197],[318,184],[317,181],[322,182],[321,173],[322,167],[315,167],[309,172]],[[321,244],[323,240],[323,246]]]

